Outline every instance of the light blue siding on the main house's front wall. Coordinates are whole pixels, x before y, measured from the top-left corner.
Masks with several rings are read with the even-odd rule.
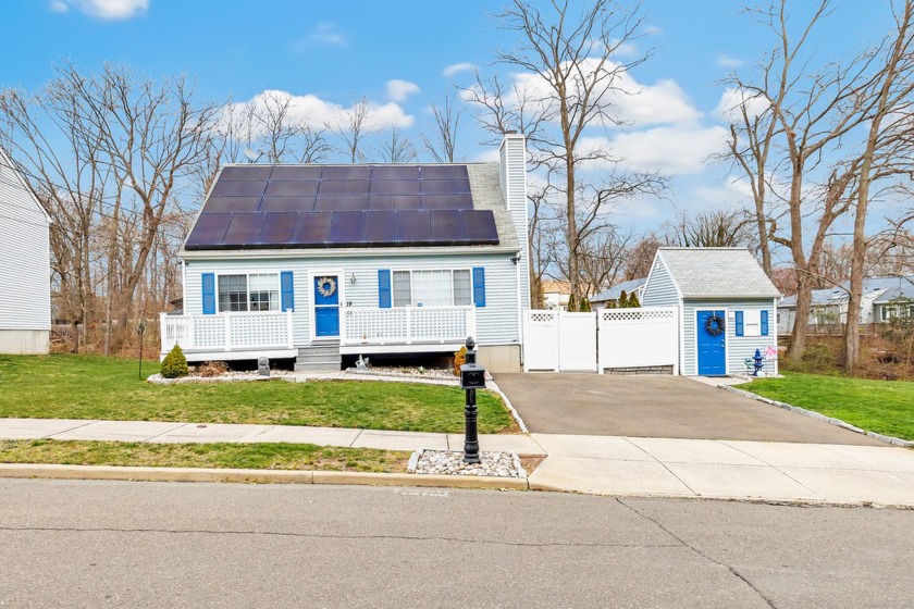
[[[221,254],[225,257],[223,252]],[[485,307],[475,309],[477,343],[489,345],[518,345],[520,343],[517,315],[517,284],[512,253],[422,254],[385,252],[384,256],[328,257],[328,258],[269,258],[245,260],[189,259],[185,261],[184,312],[202,314],[203,273],[232,274],[251,272],[292,271],[294,273],[295,313],[293,339],[296,347],[311,340],[311,282],[310,276],[339,273],[338,287],[342,314],[348,307],[379,306],[378,271],[485,269]],[[309,275],[310,273],[310,275]],[[355,284],[351,277],[355,276]],[[347,306],[346,306],[347,304]]]

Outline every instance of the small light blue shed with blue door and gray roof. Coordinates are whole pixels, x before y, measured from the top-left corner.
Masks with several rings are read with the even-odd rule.
[[[745,359],[777,348],[780,293],[749,250],[659,248],[642,306],[679,308],[679,370],[685,375],[744,373]],[[765,374],[777,374],[777,358]]]

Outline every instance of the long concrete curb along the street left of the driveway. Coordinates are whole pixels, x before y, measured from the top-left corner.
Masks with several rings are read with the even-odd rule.
[[[57,465],[40,463],[0,463],[0,477],[121,480],[133,482],[245,482],[259,484],[439,486],[449,488],[507,488],[512,490],[527,490],[529,488],[527,478],[298,470]]]

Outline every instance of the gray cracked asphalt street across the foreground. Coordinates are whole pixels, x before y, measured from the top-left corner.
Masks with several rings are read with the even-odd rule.
[[[911,607],[914,511],[0,480],[2,607]]]

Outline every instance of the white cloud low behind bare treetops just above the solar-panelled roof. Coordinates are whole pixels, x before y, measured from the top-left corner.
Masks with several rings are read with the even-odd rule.
[[[319,98],[312,94],[301,96],[292,95],[288,91],[276,89],[264,90],[246,102],[233,103],[226,108],[224,116],[243,116],[244,109],[264,108],[268,102],[275,107],[276,103],[288,101],[288,119],[294,122],[304,123],[312,128],[321,129],[326,126],[345,128],[348,117],[347,112],[353,107],[344,107],[332,101]],[[368,101],[368,116],[366,125],[374,129],[386,129],[391,127],[406,128],[411,126],[416,119],[407,114],[403,108],[394,102],[376,103]],[[255,133],[255,136],[261,134]]]

